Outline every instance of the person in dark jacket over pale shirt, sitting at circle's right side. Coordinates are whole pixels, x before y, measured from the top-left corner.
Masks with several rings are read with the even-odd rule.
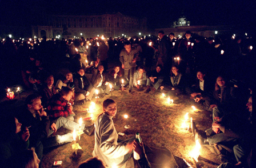
[[[206,111],[213,111],[210,108],[211,99],[213,99],[214,86],[210,82],[210,79],[205,77],[206,73],[202,70],[197,71],[197,82],[193,88],[191,97],[194,97],[195,102],[201,103],[202,107]]]

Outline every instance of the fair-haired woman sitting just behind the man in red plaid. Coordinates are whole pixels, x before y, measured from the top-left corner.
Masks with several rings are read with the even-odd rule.
[[[64,75],[64,78],[63,79],[59,79],[56,83],[56,92],[58,93],[62,87],[69,87],[71,88],[73,91],[75,90],[74,88],[74,80],[73,80],[73,74],[70,73],[70,72],[67,72],[65,75]],[[73,104],[74,102],[74,99],[75,99],[75,95],[72,96],[72,98],[70,99],[70,103]]]

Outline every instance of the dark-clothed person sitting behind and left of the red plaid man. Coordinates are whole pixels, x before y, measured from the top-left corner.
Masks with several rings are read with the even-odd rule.
[[[41,91],[42,105],[45,105],[45,103],[51,97],[53,97],[54,94],[56,94],[56,89],[53,83],[54,83],[53,75],[48,75],[45,83],[43,84],[42,91]]]

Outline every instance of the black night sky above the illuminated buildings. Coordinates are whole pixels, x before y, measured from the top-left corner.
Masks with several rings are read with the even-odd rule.
[[[182,13],[191,25],[254,25],[254,1],[65,1],[27,0],[1,2],[3,23],[29,24],[33,14],[122,14],[147,17],[149,27],[169,27]]]

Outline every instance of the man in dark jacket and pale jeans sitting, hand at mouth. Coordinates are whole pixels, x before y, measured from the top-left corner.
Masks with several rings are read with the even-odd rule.
[[[74,129],[79,130],[78,123],[70,121],[65,117],[59,117],[56,120],[49,118],[47,113],[43,110],[41,97],[38,94],[30,94],[27,96],[25,107],[21,109],[18,119],[22,122],[22,126],[31,126],[29,128],[30,143],[37,144],[38,141],[41,141],[45,148],[73,141],[73,135],[71,133],[50,137],[50,135],[56,132],[60,127],[72,131]],[[85,129],[85,125],[82,125],[81,129],[87,130],[87,128]]]

